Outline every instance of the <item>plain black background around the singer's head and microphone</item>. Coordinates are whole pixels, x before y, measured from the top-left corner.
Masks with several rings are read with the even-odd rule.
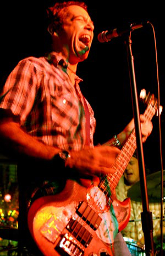
[[[99,43],[102,30],[132,23],[152,23],[156,33],[160,101],[164,106],[164,7],[159,2],[112,3],[84,1],[95,24],[95,38],[89,58],[80,63],[78,75],[84,80],[81,90],[94,108],[97,121],[95,144],[106,142],[119,133],[133,117],[127,49],[124,37]],[[43,56],[48,50],[46,8],[55,1],[14,1],[1,4],[1,86],[18,61],[27,56]],[[132,49],[138,93],[142,88],[158,97],[156,55],[153,30],[147,24],[132,33]],[[164,106],[165,107],[165,106]],[[161,114],[162,155],[164,159],[165,112]],[[144,144],[145,163],[151,172],[160,171],[158,118]]]

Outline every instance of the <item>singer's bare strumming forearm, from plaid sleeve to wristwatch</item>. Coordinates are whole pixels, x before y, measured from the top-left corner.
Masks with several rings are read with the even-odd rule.
[[[39,142],[27,134],[15,122],[0,123],[1,145],[17,155],[30,156],[36,159],[52,159],[60,149]],[[2,147],[1,147],[2,148]]]

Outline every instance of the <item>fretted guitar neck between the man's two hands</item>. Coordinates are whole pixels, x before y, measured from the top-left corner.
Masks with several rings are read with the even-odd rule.
[[[148,105],[144,113],[145,122],[151,121],[155,112],[156,112],[155,107]],[[113,191],[116,189],[116,186],[120,178],[122,177],[125,171],[125,168],[127,167],[131,157],[133,156],[135,149],[136,149],[136,135],[135,135],[135,129],[134,129],[133,132],[130,134],[127,142],[124,144],[122,150],[120,151],[120,154],[117,156],[115,164],[112,167],[113,169],[116,170],[115,173],[108,174],[105,177],[103,177],[100,183],[100,188],[102,190],[107,190],[107,187],[110,187],[110,184],[111,184],[111,194],[113,193]]]

